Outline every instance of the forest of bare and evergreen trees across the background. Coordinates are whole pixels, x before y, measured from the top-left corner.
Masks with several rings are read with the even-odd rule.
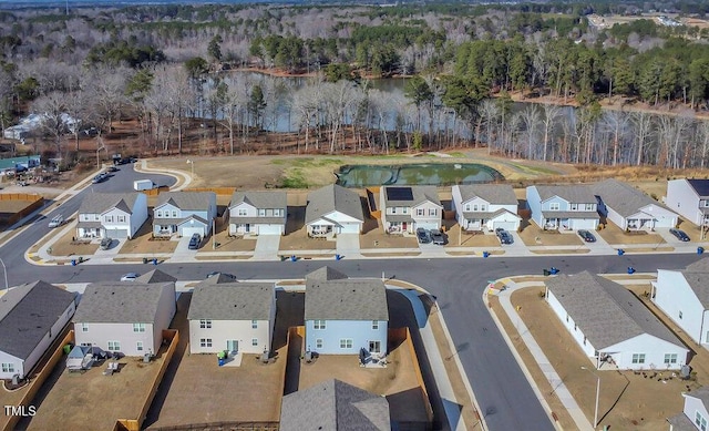
[[[136,119],[140,148],[258,152],[288,112],[297,151],[486,146],[583,164],[703,167],[702,2],[169,4],[0,10],[0,127],[28,113],[75,153],[80,129]],[[676,24],[662,24],[658,17]],[[590,17],[635,17],[599,25]],[[255,76],[244,70],[257,70]],[[305,75],[294,85],[282,75]],[[405,80],[402,94],[377,80]],[[520,103],[522,102],[522,103]],[[99,144],[97,144],[99,145]],[[42,148],[35,148],[41,151]]]

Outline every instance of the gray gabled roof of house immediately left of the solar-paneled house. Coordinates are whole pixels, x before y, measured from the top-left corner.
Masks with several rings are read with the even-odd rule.
[[[364,222],[362,203],[356,192],[337,184],[330,184],[308,193],[306,224],[315,222],[333,211]]]

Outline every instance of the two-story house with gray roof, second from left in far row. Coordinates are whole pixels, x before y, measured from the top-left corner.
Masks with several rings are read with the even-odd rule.
[[[153,235],[206,237],[217,216],[214,192],[166,192],[157,197],[153,208]]]

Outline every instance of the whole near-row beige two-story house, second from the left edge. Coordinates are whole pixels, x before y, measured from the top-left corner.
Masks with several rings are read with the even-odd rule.
[[[92,283],[74,315],[78,346],[155,355],[175,316],[175,283]]]

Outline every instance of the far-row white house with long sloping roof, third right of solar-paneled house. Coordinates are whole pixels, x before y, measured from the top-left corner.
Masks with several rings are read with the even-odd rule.
[[[677,226],[677,214],[641,191],[617,179],[590,186],[598,213],[623,230],[655,230]]]

